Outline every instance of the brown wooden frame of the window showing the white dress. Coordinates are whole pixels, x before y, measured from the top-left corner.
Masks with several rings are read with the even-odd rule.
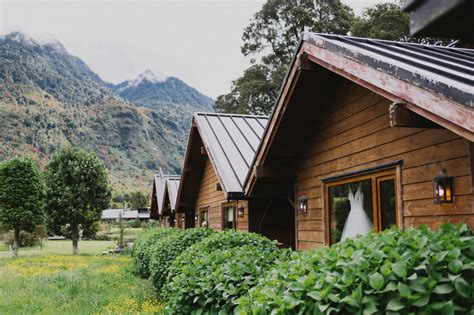
[[[382,231],[382,211],[381,211],[381,198],[380,198],[380,182],[393,179],[394,181],[394,192],[395,192],[395,224],[400,228],[399,220],[399,190],[398,190],[398,168],[382,168],[374,169],[368,173],[353,174],[348,173],[347,176],[344,174],[338,176],[336,180],[324,181],[323,180],[323,192],[324,192],[324,228],[325,228],[325,242],[326,244],[335,244],[331,240],[331,211],[329,209],[329,189],[334,186],[358,182],[362,180],[371,180],[372,184],[372,210],[374,218],[374,231]]]

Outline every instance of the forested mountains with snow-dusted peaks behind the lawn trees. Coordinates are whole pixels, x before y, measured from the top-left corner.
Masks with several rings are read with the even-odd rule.
[[[28,155],[44,166],[61,147],[79,146],[104,160],[117,191],[148,193],[158,167],[180,172],[191,112],[208,110],[210,99],[149,72],[121,85],[104,82],[58,42],[1,36],[0,161]]]

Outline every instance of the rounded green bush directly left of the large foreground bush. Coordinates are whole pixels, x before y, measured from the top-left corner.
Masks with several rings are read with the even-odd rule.
[[[188,256],[192,261],[179,256],[174,262],[179,274],[168,278],[164,290],[166,310],[171,314],[229,314],[236,299],[288,253],[270,244],[194,252]]]

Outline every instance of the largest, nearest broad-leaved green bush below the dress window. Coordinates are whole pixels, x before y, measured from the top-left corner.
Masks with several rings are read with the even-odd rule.
[[[466,225],[391,229],[294,253],[236,314],[474,314],[474,236]]]

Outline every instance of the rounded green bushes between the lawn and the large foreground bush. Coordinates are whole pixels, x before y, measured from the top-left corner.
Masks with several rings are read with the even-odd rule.
[[[149,276],[166,303],[166,313],[229,313],[290,251],[254,233],[165,228],[144,233],[132,255],[140,275]]]

